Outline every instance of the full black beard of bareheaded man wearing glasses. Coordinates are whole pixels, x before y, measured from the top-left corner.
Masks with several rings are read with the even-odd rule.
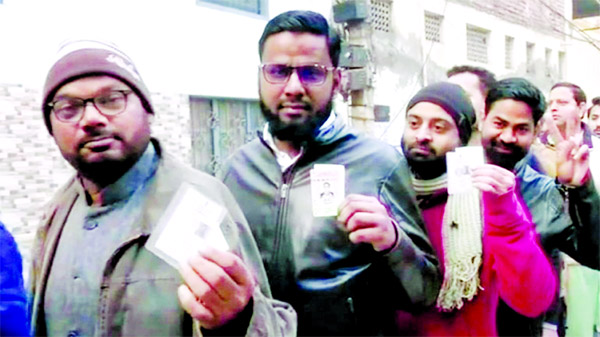
[[[310,106],[308,106],[310,107]],[[323,123],[329,118],[333,102],[329,100],[322,110],[316,111],[301,121],[284,122],[260,100],[260,110],[269,122],[269,132],[273,137],[294,144],[302,144],[313,140]]]

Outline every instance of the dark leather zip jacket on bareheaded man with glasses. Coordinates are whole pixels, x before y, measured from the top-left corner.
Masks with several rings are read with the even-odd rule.
[[[403,158],[391,146],[349,131],[338,119],[282,173],[259,138],[235,152],[223,181],[242,207],[258,243],[273,296],[298,312],[299,335],[377,335],[396,308],[431,305],[438,262],[409,188]],[[353,244],[335,217],[313,217],[310,170],[339,164],[346,195],[377,197],[399,224],[399,244],[376,252]]]

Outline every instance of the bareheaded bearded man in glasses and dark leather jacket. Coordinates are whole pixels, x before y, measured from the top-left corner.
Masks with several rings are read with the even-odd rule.
[[[258,74],[268,123],[222,177],[248,219],[273,296],[298,312],[299,335],[381,334],[394,308],[432,304],[440,284],[400,154],[332,111],[339,53],[320,14],[269,21]],[[332,202],[320,197],[324,186]]]

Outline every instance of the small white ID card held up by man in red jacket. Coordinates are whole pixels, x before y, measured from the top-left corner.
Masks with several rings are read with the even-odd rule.
[[[481,146],[464,146],[446,153],[448,172],[448,194],[461,194],[472,191],[471,170],[484,164]]]

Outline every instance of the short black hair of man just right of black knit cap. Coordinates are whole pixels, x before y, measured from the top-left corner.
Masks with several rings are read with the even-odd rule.
[[[523,102],[531,109],[533,124],[537,125],[546,111],[544,94],[533,83],[520,77],[506,78],[496,82],[485,99],[485,114],[490,112],[492,104],[503,99]]]

